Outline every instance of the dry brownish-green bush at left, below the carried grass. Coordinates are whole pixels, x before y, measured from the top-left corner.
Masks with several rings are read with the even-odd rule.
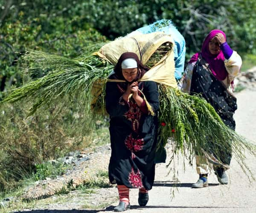
[[[41,108],[26,118],[30,104],[23,101],[0,109],[0,190],[12,190],[35,170],[38,179],[55,175],[52,170],[61,168],[47,168],[45,161],[91,143],[85,122],[90,118],[76,104],[67,101],[49,110]]]

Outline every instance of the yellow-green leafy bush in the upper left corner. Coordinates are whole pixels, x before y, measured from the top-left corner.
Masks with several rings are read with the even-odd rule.
[[[88,41],[106,40],[83,20],[75,4],[60,4],[57,0],[0,1],[0,100],[2,91],[23,83],[20,56],[29,49],[74,58]]]

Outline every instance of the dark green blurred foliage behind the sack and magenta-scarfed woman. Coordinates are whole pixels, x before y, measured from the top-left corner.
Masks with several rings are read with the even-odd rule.
[[[88,23],[111,39],[159,19],[171,19],[186,40],[188,57],[201,49],[212,29],[227,33],[229,43],[239,52],[255,53],[256,1],[248,0],[88,0],[76,4]]]

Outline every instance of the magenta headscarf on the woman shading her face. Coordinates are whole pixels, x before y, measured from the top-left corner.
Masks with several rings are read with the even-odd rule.
[[[189,60],[189,63],[197,61],[199,55],[201,54],[207,63],[209,63],[210,69],[215,78],[217,78],[219,81],[223,81],[225,78],[227,78],[227,70],[224,65],[224,54],[222,51],[220,51],[218,55],[212,55],[209,51],[209,41],[212,40],[212,38],[215,37],[217,33],[223,34],[226,39],[226,35],[223,31],[219,29],[212,30],[204,39],[201,52],[197,52],[195,55],[193,55]]]

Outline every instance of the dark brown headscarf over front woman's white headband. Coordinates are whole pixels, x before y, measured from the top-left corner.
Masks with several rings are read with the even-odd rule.
[[[145,72],[147,72],[149,70],[148,67],[144,66],[143,63],[140,62],[136,53],[134,53],[134,52],[125,52],[118,59],[118,61],[116,63],[116,66],[114,67],[115,74],[111,75],[111,77],[110,77],[111,79],[118,79],[118,80],[124,80],[125,81],[125,78],[122,75],[121,64],[122,64],[122,61],[127,59],[127,58],[134,58],[137,61],[137,67],[140,68],[140,71],[138,70],[137,76],[134,79],[134,81],[138,81],[140,78],[143,77]]]

